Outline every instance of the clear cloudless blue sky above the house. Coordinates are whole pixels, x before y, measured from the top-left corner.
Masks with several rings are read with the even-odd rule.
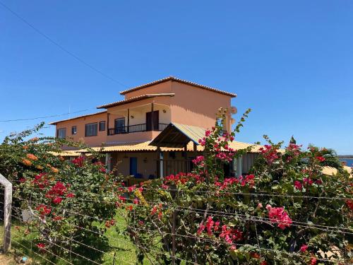
[[[239,141],[353,153],[353,1],[0,1],[126,87],[172,75],[237,93],[253,109]],[[126,87],[0,6],[0,120],[95,112]],[[37,122],[0,122],[0,140]]]

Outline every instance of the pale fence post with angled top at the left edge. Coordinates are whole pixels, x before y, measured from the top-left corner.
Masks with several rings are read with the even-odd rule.
[[[4,186],[4,252],[11,248],[11,204],[12,184],[0,174],[0,184]]]

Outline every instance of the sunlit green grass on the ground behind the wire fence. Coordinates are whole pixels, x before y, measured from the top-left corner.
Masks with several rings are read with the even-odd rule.
[[[112,228],[107,229],[106,235],[109,240],[109,246],[111,247],[110,250],[104,251],[105,254],[102,255],[102,261],[97,261],[98,263],[102,263],[104,265],[124,265],[124,264],[136,264],[136,247],[133,245],[130,239],[126,238],[122,235],[122,231],[126,228],[125,219],[119,211],[116,213],[116,225]],[[18,220],[13,221],[11,226],[11,238],[12,240],[12,254],[17,257],[17,259],[21,259],[21,257],[30,257],[34,261],[37,261],[40,264],[48,264],[48,261],[39,257],[36,253],[38,252],[37,247],[32,242],[33,238],[35,237],[34,234],[27,235],[23,237],[23,231],[25,230],[23,223],[20,223]],[[0,223],[0,245],[2,245],[3,237],[4,237],[4,226]],[[97,235],[98,236],[98,235]],[[88,244],[89,245],[89,244]],[[95,247],[95,245],[90,245],[91,247]],[[90,249],[89,247],[85,247],[88,252],[92,252],[94,250]],[[96,247],[99,249],[99,247]],[[44,253],[40,253],[44,256]],[[72,257],[75,255],[72,254]],[[53,257],[52,254],[46,254],[45,257],[50,258]],[[64,257],[66,260],[70,260],[70,257]],[[90,261],[85,261],[83,259],[83,263],[76,263],[74,264],[95,264]],[[15,263],[14,263],[15,264]],[[67,264],[65,261],[57,259],[56,264]],[[148,260],[143,261],[143,265],[150,264]]]

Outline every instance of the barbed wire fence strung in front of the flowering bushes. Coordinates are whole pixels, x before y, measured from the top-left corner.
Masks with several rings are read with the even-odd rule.
[[[13,183],[13,188],[16,189],[17,187],[18,187],[18,184],[16,182]],[[38,189],[38,188],[33,188],[33,189]],[[126,189],[126,194],[127,194],[128,188],[126,187],[125,189]],[[161,190],[161,189],[152,189],[152,188],[145,188],[145,189],[150,189],[151,191],[155,191],[155,192],[158,192]],[[177,191],[177,190],[173,190],[173,189],[169,190],[169,192],[172,192],[172,191]],[[202,190],[196,190],[193,192],[199,192],[201,194],[211,193],[211,192],[202,191]],[[104,225],[104,223],[109,221],[104,218],[98,218],[97,216],[89,216],[84,213],[78,213],[77,211],[75,211],[75,205],[76,205],[75,201],[77,203],[79,203],[80,201],[88,201],[90,203],[95,203],[95,202],[102,203],[103,202],[104,204],[112,204],[112,202],[110,202],[110,201],[104,201],[101,194],[95,194],[92,192],[83,192],[83,194],[87,194],[87,195],[89,194],[90,196],[93,196],[96,199],[95,200],[92,200],[92,199],[88,200],[88,199],[85,199],[84,197],[75,197],[75,198],[73,198],[72,208],[65,209],[64,211],[66,211],[67,213],[69,213],[70,215],[73,215],[73,216],[80,216],[80,218],[90,218],[92,221],[97,222],[98,225]],[[254,196],[254,197],[280,196],[280,197],[292,198],[292,199],[294,199],[294,198],[295,199],[299,199],[299,198],[301,198],[301,199],[322,199],[325,201],[333,201],[333,200],[346,201],[346,200],[349,200],[349,198],[339,197],[339,196],[333,196],[333,197],[296,196],[296,195],[285,195],[285,194],[284,195],[268,194],[268,193],[266,194],[264,191],[260,191],[257,193],[227,192],[227,194],[231,194],[233,196],[250,195],[250,196]],[[3,190],[0,193],[0,196],[1,196],[1,198],[4,198],[5,196],[8,197],[8,192],[6,193]],[[11,199],[13,199],[13,201],[26,201],[26,200],[28,200],[28,198],[23,198],[23,197],[16,195],[16,194],[11,196]],[[126,237],[126,238],[117,237],[116,235],[105,235],[105,236],[109,239],[110,245],[129,244],[129,245],[133,246],[133,248],[139,249],[141,252],[145,253],[145,257],[148,259],[148,261],[150,261],[150,264],[156,264],[156,261],[153,260],[153,258],[152,258],[153,254],[167,256],[167,258],[172,260],[172,264],[198,264],[196,261],[186,260],[186,259],[183,259],[179,256],[179,254],[177,252],[177,247],[176,247],[176,241],[178,238],[179,239],[180,238],[188,238],[188,239],[192,239],[192,240],[215,243],[217,245],[227,245],[227,242],[217,240],[213,237],[205,237],[203,235],[198,235],[197,233],[183,234],[183,233],[177,232],[176,225],[175,225],[175,219],[176,219],[177,212],[183,211],[184,213],[196,213],[196,214],[200,214],[200,215],[204,215],[207,213],[212,216],[217,216],[219,218],[236,217],[238,220],[248,221],[248,222],[253,223],[255,225],[255,228],[256,228],[256,225],[259,223],[271,223],[270,218],[254,216],[251,213],[241,214],[241,213],[236,213],[236,212],[214,211],[214,210],[204,209],[204,208],[193,208],[190,206],[176,206],[174,204],[170,204],[167,202],[157,202],[157,201],[146,201],[146,203],[149,205],[161,204],[164,209],[169,209],[169,208],[172,209],[172,227],[169,232],[160,231],[158,229],[158,227],[156,227],[155,229],[138,228],[138,227],[136,227],[136,225],[126,224],[123,220],[115,220],[114,225],[119,226],[119,228],[121,228],[121,229],[129,229],[129,230],[134,231],[136,233],[138,233],[138,232],[151,232],[156,235],[160,235],[161,236],[160,242],[158,242],[158,243],[156,242],[156,244],[163,244],[164,242],[162,242],[162,240],[164,240],[164,237],[166,237],[168,235],[168,237],[172,238],[172,249],[169,249],[170,250],[169,252],[160,252],[160,251],[154,249],[152,246],[146,247],[145,245],[140,245],[138,242],[133,242],[132,240],[129,240],[128,237]],[[57,261],[60,261],[60,264],[136,264],[135,260],[121,257],[121,255],[119,257],[116,257],[116,252],[119,251],[119,249],[118,250],[115,249],[115,251],[113,251],[113,252],[108,252],[105,249],[100,249],[96,245],[90,245],[87,242],[82,242],[80,240],[76,240],[76,238],[68,237],[65,235],[63,235],[64,239],[57,240],[55,242],[51,242],[50,240],[42,238],[42,240],[46,241],[48,244],[55,245],[59,249],[64,250],[64,253],[65,253],[64,255],[54,253],[44,247],[38,248],[33,242],[33,237],[25,235],[23,233],[23,229],[26,227],[26,225],[28,225],[28,222],[31,221],[31,218],[40,218],[40,217],[32,212],[32,216],[30,217],[29,220],[26,221],[23,219],[23,216],[21,214],[23,211],[23,208],[16,206],[16,205],[12,205],[12,211],[8,211],[8,201],[6,201],[6,200],[0,201],[0,204],[1,204],[1,206],[4,206],[4,212],[6,211],[4,216],[1,216],[1,222],[4,222],[4,224],[7,223],[10,225],[4,229],[5,230],[4,243],[6,245],[6,242],[11,242],[12,243],[11,248],[15,251],[16,254],[20,254],[20,256],[22,256],[22,257],[30,257],[31,259],[41,261],[44,264],[48,264],[48,263],[49,264],[56,264]],[[58,208],[58,211],[57,211],[58,213],[60,210],[62,210],[59,208],[59,206],[46,205],[46,204],[44,204],[44,201],[42,201],[40,199],[31,199],[31,204],[34,208],[35,208],[35,206],[39,206],[39,205],[44,205],[44,206],[48,206],[51,208],[56,207],[56,208]],[[126,204],[126,206],[133,205],[133,207],[145,207],[142,204],[133,204],[133,199],[128,198],[128,196],[126,196],[126,202],[124,204]],[[134,214],[134,211],[132,211],[132,213]],[[6,220],[6,216],[7,216],[7,218],[10,218],[10,223],[9,223],[9,220]],[[46,218],[48,218],[48,217],[46,217]],[[12,223],[11,223],[11,219],[12,219]],[[53,220],[48,220],[48,221],[53,221]],[[56,221],[63,222],[64,220],[56,220]],[[329,225],[322,225],[320,223],[303,223],[298,220],[292,220],[291,225],[296,226],[301,229],[303,229],[303,228],[315,229],[315,230],[321,230],[323,232],[348,235],[351,237],[353,236],[352,228],[349,228],[349,227],[329,226]],[[92,235],[95,235],[97,237],[102,236],[102,234],[100,232],[97,232],[96,230],[80,227],[78,225],[75,225],[75,227],[78,230],[83,230],[85,232],[92,233]],[[10,230],[9,228],[12,228],[12,229]],[[12,232],[11,235],[9,234],[9,231]],[[44,232],[54,232],[54,231],[52,231],[50,228],[45,228]],[[258,240],[257,230],[256,230],[256,237]],[[84,254],[77,253],[77,252],[73,251],[73,249],[71,249],[71,247],[68,247],[68,245],[71,245],[71,244],[80,245],[80,247],[85,248],[88,252],[97,252],[97,253],[103,254],[107,257],[110,257],[110,261],[107,262],[107,261],[102,261],[100,259],[92,259],[91,257],[85,256]],[[234,245],[237,247],[246,246],[246,244],[240,244],[237,242],[234,242]],[[6,250],[6,248],[9,249],[9,246],[10,245],[8,244],[7,247],[4,247],[4,250]],[[261,245],[259,243],[257,245],[253,245],[252,247],[253,247],[253,249],[256,249],[256,251],[258,251],[260,253],[260,255],[262,252],[274,252],[274,253],[283,254],[286,257],[307,257],[304,254],[301,254],[300,252],[284,252],[279,249],[270,249],[270,248],[261,247]],[[151,257],[148,256],[148,253],[152,253]],[[76,259],[73,259],[73,257],[76,257]],[[80,260],[81,263],[77,263],[77,260]],[[325,257],[324,255],[322,255],[322,257],[317,257],[317,260],[326,262],[328,264],[337,264],[337,262],[338,262],[336,259],[332,259],[330,257]],[[345,261],[339,261],[339,264],[349,264],[349,263],[347,263]]]

